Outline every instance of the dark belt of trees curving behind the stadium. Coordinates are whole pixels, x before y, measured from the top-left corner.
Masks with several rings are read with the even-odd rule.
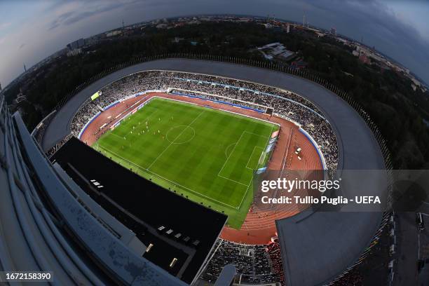
[[[175,41],[176,37],[178,38]],[[27,100],[12,104],[19,109],[31,130],[71,90],[91,76],[137,57],[162,53],[226,55],[265,60],[255,50],[266,43],[280,42],[308,62],[309,71],[346,90],[379,126],[393,154],[395,168],[429,167],[429,95],[401,74],[381,64],[363,64],[353,48],[332,37],[292,29],[266,29],[257,23],[203,22],[172,29],[147,27],[126,36],[107,38],[83,49],[80,55],[58,57],[29,73],[8,88],[9,103],[20,89]],[[288,65],[290,62],[279,62]]]

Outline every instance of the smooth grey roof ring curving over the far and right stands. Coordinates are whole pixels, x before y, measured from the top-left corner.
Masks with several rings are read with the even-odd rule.
[[[56,114],[43,137],[43,149],[48,150],[69,134],[74,113],[90,95],[123,76],[150,69],[226,76],[291,90],[311,100],[331,123],[339,145],[339,170],[385,168],[379,145],[365,121],[329,90],[278,71],[203,60],[144,62],[96,81],[75,95]],[[358,190],[359,186],[352,189]],[[304,212],[278,221],[287,285],[320,285],[336,278],[360,257],[379,229],[380,222],[381,212]]]

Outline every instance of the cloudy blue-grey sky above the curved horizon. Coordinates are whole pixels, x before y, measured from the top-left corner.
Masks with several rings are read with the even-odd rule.
[[[330,29],[392,57],[429,83],[429,1],[0,0],[0,83],[67,43],[135,22],[198,14],[271,15]]]

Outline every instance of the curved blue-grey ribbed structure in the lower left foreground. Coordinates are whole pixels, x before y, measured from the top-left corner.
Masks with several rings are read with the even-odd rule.
[[[54,285],[185,285],[86,210],[3,98],[0,126],[1,271],[51,271]]]

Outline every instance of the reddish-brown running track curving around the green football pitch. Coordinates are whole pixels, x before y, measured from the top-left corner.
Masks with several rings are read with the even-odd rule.
[[[293,170],[313,172],[314,170],[323,170],[320,153],[311,142],[308,135],[304,134],[298,125],[287,121],[278,116],[263,114],[251,109],[243,109],[240,107],[231,106],[203,100],[196,97],[186,97],[184,95],[174,95],[170,93],[146,93],[137,97],[132,97],[123,102],[110,107],[103,111],[99,116],[93,119],[86,126],[86,129],[81,134],[81,141],[88,145],[92,145],[101,137],[104,132],[107,132],[112,125],[127,116],[132,110],[140,104],[147,102],[152,97],[163,97],[181,102],[189,102],[198,104],[203,107],[211,107],[214,109],[231,111],[236,114],[259,118],[265,121],[270,121],[280,125],[278,141],[275,149],[271,154],[271,159],[268,161],[267,170],[276,170],[276,172],[289,172]],[[297,154],[297,149],[300,149]],[[294,196],[305,196],[305,193],[300,193],[299,190],[293,193]],[[247,217],[240,229],[233,229],[229,226],[224,226],[220,235],[224,240],[229,240],[235,243],[243,243],[249,245],[266,245],[271,243],[271,238],[277,236],[275,221],[292,217],[304,210],[303,205],[296,204],[275,204],[270,207],[259,207],[253,203],[247,212]]]

